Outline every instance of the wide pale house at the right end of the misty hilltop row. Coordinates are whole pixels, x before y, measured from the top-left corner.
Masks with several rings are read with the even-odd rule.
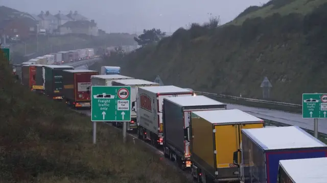
[[[89,36],[98,36],[98,26],[94,20],[75,20],[68,21],[59,26],[59,34],[85,34]]]

